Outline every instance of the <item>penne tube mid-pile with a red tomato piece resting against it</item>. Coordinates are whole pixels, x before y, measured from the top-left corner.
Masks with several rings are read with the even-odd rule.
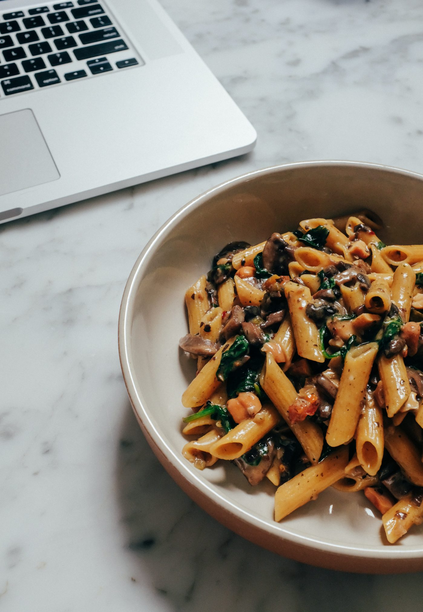
[[[309,461],[317,463],[323,449],[323,433],[320,427],[310,420],[291,423],[288,408],[294,403],[298,394],[290,379],[283,373],[270,353],[266,355],[260,382],[264,392],[298,439]]]

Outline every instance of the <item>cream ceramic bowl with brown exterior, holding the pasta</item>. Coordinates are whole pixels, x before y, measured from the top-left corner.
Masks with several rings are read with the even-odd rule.
[[[207,272],[227,242],[256,244],[274,231],[294,230],[310,217],[371,209],[383,218],[381,239],[420,243],[423,176],[352,162],[307,162],[244,174],[198,196],[171,217],[138,258],[119,315],[122,372],[138,422],[178,485],[228,528],[283,556],[337,570],[423,570],[423,529],[395,545],[361,493],[329,488],[281,523],[274,491],[250,487],[230,462],[199,471],[181,455],[181,395],[195,375],[178,340],[187,333],[184,293]],[[170,500],[171,502],[171,500]],[[423,527],[423,526],[422,526]]]

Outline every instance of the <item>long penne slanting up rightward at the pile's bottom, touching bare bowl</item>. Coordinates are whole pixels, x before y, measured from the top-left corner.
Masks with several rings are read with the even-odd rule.
[[[275,521],[282,520],[297,508],[316,499],[321,491],[341,479],[347,463],[348,449],[342,447],[317,465],[280,485],[275,493]]]

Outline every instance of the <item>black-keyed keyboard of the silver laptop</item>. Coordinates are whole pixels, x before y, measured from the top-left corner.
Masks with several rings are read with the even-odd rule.
[[[104,2],[0,12],[0,97],[143,64]]]

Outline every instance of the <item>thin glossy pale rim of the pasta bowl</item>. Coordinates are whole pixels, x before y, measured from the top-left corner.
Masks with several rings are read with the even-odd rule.
[[[311,166],[341,166],[351,168],[364,168],[380,170],[383,172],[389,172],[394,174],[402,174],[408,177],[414,177],[419,181],[423,181],[423,174],[419,174],[413,171],[404,170],[403,168],[396,168],[395,166],[387,166],[378,163],[370,162],[353,162],[345,160],[315,160],[307,162],[293,162],[285,163],[274,166],[267,166],[260,170],[252,170],[247,173],[241,174],[228,179],[222,183],[211,187],[205,192],[201,193],[197,197],[190,200],[187,204],[184,204],[178,211],[171,215],[168,220],[157,230],[154,236],[151,237],[149,242],[145,245],[140,256],[132,267],[129,278],[125,285],[124,293],[122,296],[121,307],[119,310],[119,324],[118,324],[118,347],[119,347],[119,359],[121,362],[122,375],[124,378],[125,386],[132,404],[132,408],[137,416],[138,422],[140,422],[141,428],[146,434],[146,438],[152,450],[157,455],[163,466],[167,469],[165,461],[168,461],[173,469],[167,469],[171,476],[175,480],[175,471],[179,473],[179,476],[184,481],[183,483],[178,482],[179,486],[184,488],[185,492],[191,496],[193,488],[197,489],[200,494],[208,498],[212,504],[217,504],[226,515],[232,515],[236,520],[245,521],[246,523],[253,524],[253,526],[259,531],[263,532],[266,537],[271,535],[279,541],[290,542],[292,545],[297,547],[305,547],[318,551],[320,553],[328,553],[335,555],[347,556],[349,558],[372,558],[380,561],[404,561],[405,559],[419,559],[423,555],[423,543],[420,547],[406,547],[400,548],[398,546],[384,545],[380,543],[378,547],[362,547],[361,545],[342,545],[334,542],[327,542],[320,540],[318,536],[301,535],[289,528],[283,526],[283,523],[276,523],[268,521],[264,518],[255,515],[245,507],[240,507],[237,504],[231,502],[229,499],[224,498],[219,494],[218,491],[213,490],[210,483],[206,479],[201,478],[201,472],[194,474],[190,471],[186,461],[184,461],[182,454],[174,451],[167,442],[160,435],[159,430],[152,422],[147,403],[143,398],[143,395],[138,393],[137,387],[133,379],[132,365],[130,359],[130,315],[132,314],[133,300],[135,299],[136,289],[138,286],[138,279],[141,277],[144,263],[148,260],[149,256],[154,252],[155,248],[159,247],[160,243],[165,239],[168,233],[173,229],[176,222],[181,221],[191,211],[197,209],[206,203],[211,196],[217,193],[224,192],[228,187],[240,184],[242,182],[248,182],[256,176],[266,176],[266,174],[272,174],[277,171],[291,170],[294,168],[309,168]],[[164,461],[163,461],[164,458]],[[179,481],[179,478],[178,478]],[[185,484],[185,487],[184,487]],[[198,500],[195,500],[198,501]],[[202,505],[202,504],[201,504]],[[208,511],[207,506],[203,508]],[[209,513],[215,516],[212,510]],[[219,517],[215,517],[220,520]],[[222,520],[225,523],[224,520]],[[247,536],[248,537],[248,536]],[[316,562],[317,564],[317,562]],[[419,568],[417,568],[419,569]],[[377,571],[377,570],[376,570]],[[397,569],[395,571],[401,571]],[[408,569],[408,571],[410,571]]]

